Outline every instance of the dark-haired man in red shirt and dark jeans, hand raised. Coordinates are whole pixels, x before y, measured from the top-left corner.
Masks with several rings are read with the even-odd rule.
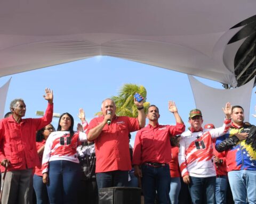
[[[147,114],[149,124],[138,131],[135,138],[134,174],[142,177],[142,190],[146,204],[154,203],[156,192],[159,203],[170,203],[171,176],[168,165],[172,158],[170,137],[185,131],[185,125],[173,101],[169,101],[169,111],[173,113],[176,125],[159,125],[158,108],[151,105]]]

